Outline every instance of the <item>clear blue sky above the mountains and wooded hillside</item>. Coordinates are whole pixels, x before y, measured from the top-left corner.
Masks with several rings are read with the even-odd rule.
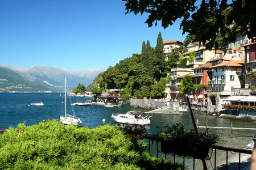
[[[143,41],[155,47],[159,32],[163,40],[185,39],[179,23],[149,28],[146,15],[125,12],[121,0],[2,0],[0,64],[106,70],[141,53]]]

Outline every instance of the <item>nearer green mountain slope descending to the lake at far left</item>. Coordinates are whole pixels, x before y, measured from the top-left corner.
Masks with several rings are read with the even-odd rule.
[[[30,82],[22,75],[0,67],[0,92],[49,92],[49,88]]]

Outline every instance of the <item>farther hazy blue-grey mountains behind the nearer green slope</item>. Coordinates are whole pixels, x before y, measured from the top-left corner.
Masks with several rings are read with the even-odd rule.
[[[8,69],[15,71],[23,79],[47,87],[52,91],[64,90],[64,78],[67,78],[68,90],[72,91],[81,83],[89,86],[93,79],[100,74],[102,69],[85,69],[82,71],[70,71],[67,69],[56,69],[54,67],[35,66],[32,68],[22,69],[16,66],[6,66]],[[0,77],[1,78],[1,77]]]

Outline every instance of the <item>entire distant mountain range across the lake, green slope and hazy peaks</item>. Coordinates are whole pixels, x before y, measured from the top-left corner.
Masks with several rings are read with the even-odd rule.
[[[60,92],[64,90],[64,78],[67,78],[68,90],[77,84],[85,87],[100,74],[103,69],[85,69],[73,72],[67,69],[35,66],[22,69],[16,66],[0,66],[0,92]]]

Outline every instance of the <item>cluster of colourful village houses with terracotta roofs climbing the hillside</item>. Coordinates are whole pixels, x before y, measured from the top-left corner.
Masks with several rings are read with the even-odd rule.
[[[164,41],[164,53],[169,54],[171,49],[179,46],[180,41]],[[205,50],[199,42],[189,43],[183,56],[189,58],[193,53],[196,57],[189,58],[185,68],[171,69],[170,83],[166,84],[164,91],[166,99],[184,102],[179,85],[183,76],[191,75],[195,84],[201,84],[189,94],[194,108],[208,113],[224,112],[225,108],[226,114],[256,115],[256,96],[250,95],[254,94],[256,86],[256,42],[240,35],[228,48],[224,53]]]

